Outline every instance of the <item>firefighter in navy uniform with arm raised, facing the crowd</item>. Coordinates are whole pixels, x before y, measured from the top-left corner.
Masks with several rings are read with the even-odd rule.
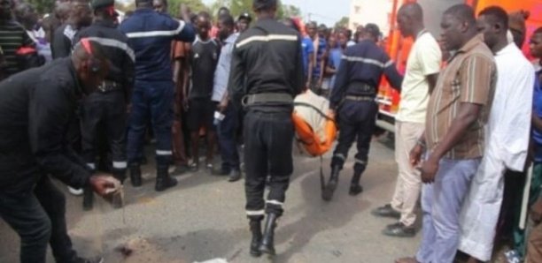
[[[136,0],[136,11],[120,24],[136,52],[136,80],[128,121],[128,164],[130,181],[141,186],[140,161],[147,120],[156,136],[156,191],[177,184],[167,171],[172,162],[171,127],[174,121],[174,82],[171,66],[171,41],[194,41],[194,28],[182,4],[184,21],[154,11],[152,0]]]

